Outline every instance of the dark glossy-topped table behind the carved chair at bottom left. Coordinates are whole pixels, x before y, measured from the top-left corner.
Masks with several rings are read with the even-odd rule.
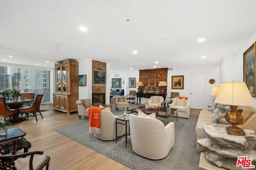
[[[28,152],[28,149],[31,148],[31,143],[24,138],[25,135],[26,132],[22,131],[20,128],[11,127],[7,129],[6,135],[0,136],[0,143],[22,137],[22,141],[17,143],[17,150],[24,149],[25,153]],[[12,144],[7,144],[3,145],[2,149],[4,150],[4,154],[9,154],[13,152],[14,146]]]

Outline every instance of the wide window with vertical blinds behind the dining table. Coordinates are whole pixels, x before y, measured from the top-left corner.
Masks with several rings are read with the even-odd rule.
[[[0,63],[0,82],[0,90],[17,87],[24,93],[44,94],[42,102],[50,102],[50,69]]]

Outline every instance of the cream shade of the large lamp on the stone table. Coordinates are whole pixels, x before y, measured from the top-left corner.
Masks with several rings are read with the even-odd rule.
[[[255,105],[245,82],[224,82],[220,87],[215,103],[232,106]]]

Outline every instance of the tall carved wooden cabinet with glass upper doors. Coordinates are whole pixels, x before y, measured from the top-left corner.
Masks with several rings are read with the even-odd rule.
[[[56,93],[53,93],[53,109],[70,112],[78,111],[78,69],[77,61],[67,60],[55,63]]]

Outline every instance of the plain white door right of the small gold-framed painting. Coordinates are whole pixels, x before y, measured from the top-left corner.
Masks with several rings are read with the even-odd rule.
[[[206,73],[190,74],[190,108],[206,108]]]

